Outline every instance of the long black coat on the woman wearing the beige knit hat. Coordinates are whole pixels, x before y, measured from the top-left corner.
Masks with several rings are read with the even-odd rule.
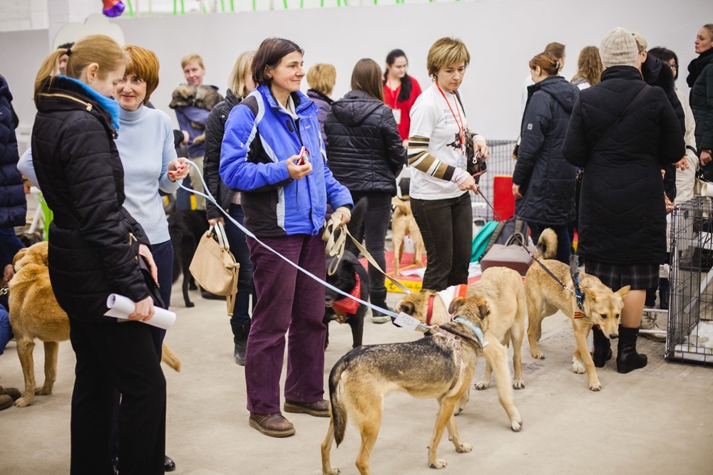
[[[645,87],[636,68],[607,68],[601,83],[580,93],[572,111],[562,152],[572,165],[584,167],[578,251],[594,261],[665,259],[661,169],[681,159],[684,140],[664,91],[651,88],[593,150]]]

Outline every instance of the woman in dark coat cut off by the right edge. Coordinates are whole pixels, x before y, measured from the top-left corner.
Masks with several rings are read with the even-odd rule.
[[[701,165],[708,177],[713,176],[713,24],[701,27],[696,36],[695,58],[688,65],[686,82],[691,88],[690,104],[696,119],[696,144]]]

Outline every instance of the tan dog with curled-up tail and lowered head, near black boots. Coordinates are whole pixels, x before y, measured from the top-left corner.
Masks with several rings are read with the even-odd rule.
[[[598,391],[602,389],[597,370],[592,360],[592,355],[587,347],[587,336],[594,325],[599,325],[602,332],[610,340],[619,336],[619,323],[624,297],[629,293],[630,286],[620,288],[613,292],[605,286],[599,278],[580,272],[580,288],[584,291],[583,309],[577,306],[577,299],[573,294],[573,282],[570,275],[570,266],[560,261],[548,259],[557,249],[557,236],[552,229],[545,229],[540,235],[538,249],[535,256],[541,261],[569,290],[565,290],[558,281],[548,275],[538,264],[533,263],[525,274],[525,299],[528,304],[528,340],[530,352],[534,358],[544,358],[540,351],[538,341],[542,336],[542,320],[553,315],[557,310],[567,315],[572,320],[574,330],[575,348],[572,357],[572,370],[575,373],[587,372],[589,389]]]

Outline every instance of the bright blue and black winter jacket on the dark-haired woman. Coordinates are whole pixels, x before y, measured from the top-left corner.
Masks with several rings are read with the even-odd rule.
[[[279,107],[267,85],[261,85],[232,108],[225,122],[220,152],[220,178],[242,192],[245,227],[257,237],[317,235],[324,226],[327,203],[352,207],[352,195],[327,167],[319,130],[319,108],[302,93],[292,93],[298,119]],[[312,172],[293,180],[287,159],[304,145]]]

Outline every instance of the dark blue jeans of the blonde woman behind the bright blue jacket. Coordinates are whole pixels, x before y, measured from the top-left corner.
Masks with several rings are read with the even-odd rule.
[[[245,221],[245,214],[242,212],[240,204],[231,203],[228,214],[240,224]],[[247,248],[245,233],[235,224],[232,224],[230,219],[225,220],[225,234],[227,234],[227,242],[230,244],[230,252],[235,256],[235,260],[240,263],[240,271],[237,274],[235,309],[232,312],[230,324],[242,325],[250,322],[250,294],[253,294],[252,308],[255,308],[255,301],[257,300],[255,291],[252,288],[250,249]]]

